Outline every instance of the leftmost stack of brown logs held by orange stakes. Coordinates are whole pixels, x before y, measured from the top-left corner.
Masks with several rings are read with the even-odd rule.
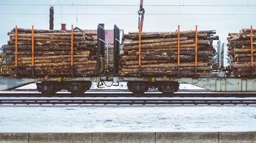
[[[8,33],[8,44],[2,47],[2,74],[22,77],[80,77],[95,74],[97,41],[92,34],[73,32],[72,67],[71,31],[35,29],[33,32],[32,29],[17,29],[17,66],[15,29]]]

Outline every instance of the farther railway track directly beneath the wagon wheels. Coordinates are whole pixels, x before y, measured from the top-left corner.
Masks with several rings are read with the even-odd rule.
[[[128,90],[89,90],[83,95],[72,95],[68,92],[58,92],[54,95],[42,95],[36,91],[0,92],[0,97],[256,97],[256,93],[216,93],[205,90],[179,91],[173,95],[163,95],[157,90],[150,90],[142,95],[134,95]]]

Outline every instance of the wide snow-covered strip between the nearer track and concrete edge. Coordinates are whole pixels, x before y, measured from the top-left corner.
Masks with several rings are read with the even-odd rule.
[[[256,131],[253,106],[0,107],[0,132]]]

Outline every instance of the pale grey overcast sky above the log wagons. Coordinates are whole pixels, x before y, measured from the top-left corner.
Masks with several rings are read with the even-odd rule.
[[[98,23],[105,23],[106,29],[117,24],[125,32],[138,30],[139,0],[1,0],[0,44],[8,41],[7,32],[15,25],[48,29],[49,5],[55,7],[55,29],[61,28],[61,10],[67,29],[76,26],[77,9],[77,26],[82,29],[96,29]],[[199,30],[216,29],[224,41],[228,32],[251,25],[256,28],[255,0],[144,0],[144,5],[146,32],[175,31],[178,24],[181,30],[189,30],[198,24]]]

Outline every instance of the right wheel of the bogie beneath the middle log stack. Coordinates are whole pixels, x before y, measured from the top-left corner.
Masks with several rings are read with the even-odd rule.
[[[164,95],[171,95],[177,90],[179,90],[179,82],[164,82],[161,84],[161,87],[158,87],[158,90]]]

